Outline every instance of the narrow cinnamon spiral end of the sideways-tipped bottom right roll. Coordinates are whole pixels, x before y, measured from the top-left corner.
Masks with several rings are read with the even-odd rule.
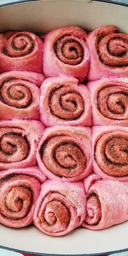
[[[98,225],[101,220],[101,204],[99,198],[94,193],[87,197],[87,216],[85,223],[88,225]]]

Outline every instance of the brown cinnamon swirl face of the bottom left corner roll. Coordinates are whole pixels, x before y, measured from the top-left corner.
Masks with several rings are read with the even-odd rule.
[[[29,213],[34,198],[28,179],[28,175],[11,174],[0,181],[0,213],[5,218],[18,221]]]

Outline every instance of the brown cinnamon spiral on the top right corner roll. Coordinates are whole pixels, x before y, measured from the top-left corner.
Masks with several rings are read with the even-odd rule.
[[[115,31],[117,32],[117,30]],[[128,66],[128,36],[125,34],[106,34],[105,31],[97,36],[97,54],[99,60],[108,67]]]

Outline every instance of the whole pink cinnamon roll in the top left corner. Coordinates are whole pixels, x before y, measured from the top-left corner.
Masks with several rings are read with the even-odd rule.
[[[26,31],[0,35],[0,73],[18,70],[42,73],[43,42]]]

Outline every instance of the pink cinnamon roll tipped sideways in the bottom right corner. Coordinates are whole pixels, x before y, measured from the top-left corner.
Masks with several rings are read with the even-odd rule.
[[[128,220],[128,185],[91,174],[84,186],[87,215],[83,227],[104,229]]]

